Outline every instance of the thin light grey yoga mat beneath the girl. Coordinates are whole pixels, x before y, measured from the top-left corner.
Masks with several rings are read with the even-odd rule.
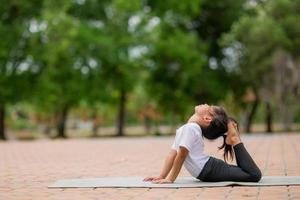
[[[300,185],[300,176],[265,176],[253,182],[202,182],[193,177],[179,177],[173,184],[144,182],[142,177],[103,177],[58,180],[48,188],[198,188],[223,186],[276,186]]]

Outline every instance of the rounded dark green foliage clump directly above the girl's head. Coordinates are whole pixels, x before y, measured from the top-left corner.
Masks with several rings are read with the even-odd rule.
[[[165,21],[161,21],[151,34],[146,88],[164,113],[182,116],[187,111],[186,105],[193,103],[193,94],[198,89],[206,60],[203,56],[205,44],[194,32],[173,27]]]

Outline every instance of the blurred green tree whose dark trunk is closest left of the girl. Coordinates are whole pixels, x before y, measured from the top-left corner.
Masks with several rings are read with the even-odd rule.
[[[105,40],[101,42],[100,50],[92,53],[96,62],[101,64],[95,78],[104,80],[102,83],[105,82],[110,93],[110,97],[108,95],[106,98],[118,105],[118,136],[124,134],[127,96],[133,91],[141,71],[141,55],[135,56],[134,52],[145,49],[141,33],[146,20],[143,6],[143,2],[138,0],[131,0],[130,3],[124,0],[85,1],[74,4],[69,10],[71,15],[103,31]],[[93,46],[99,49],[97,45]]]

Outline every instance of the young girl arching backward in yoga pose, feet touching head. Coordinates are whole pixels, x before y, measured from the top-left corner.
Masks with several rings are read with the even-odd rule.
[[[224,160],[228,156],[232,159],[235,154],[237,166],[205,155],[202,136],[210,140],[223,136],[224,143],[219,148],[224,148]],[[201,181],[258,182],[261,179],[259,168],[241,142],[236,121],[228,118],[219,106],[196,106],[188,123],[177,129],[175,141],[160,175],[147,177],[144,181],[173,183],[182,165]]]

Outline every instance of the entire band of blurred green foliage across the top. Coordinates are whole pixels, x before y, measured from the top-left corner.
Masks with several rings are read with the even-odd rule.
[[[127,100],[131,122],[147,106],[181,119],[198,103],[244,107],[278,49],[300,52],[300,1],[256,2],[3,0],[0,107],[79,107],[112,120]]]

